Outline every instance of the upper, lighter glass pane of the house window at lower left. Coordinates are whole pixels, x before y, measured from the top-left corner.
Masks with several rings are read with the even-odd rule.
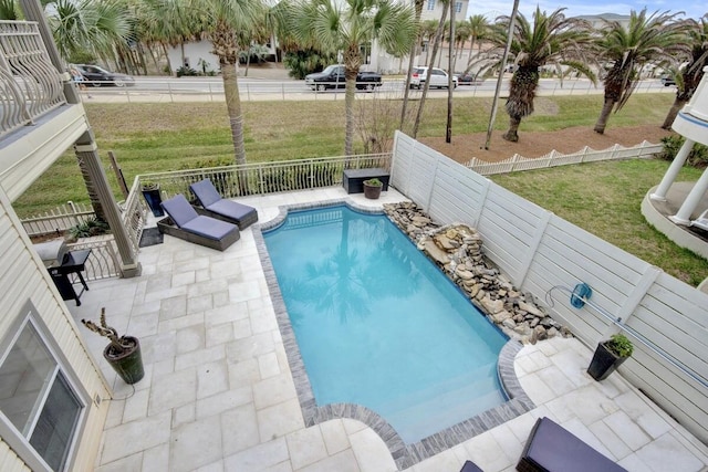
[[[25,437],[55,367],[37,331],[28,323],[0,366],[0,410]]]

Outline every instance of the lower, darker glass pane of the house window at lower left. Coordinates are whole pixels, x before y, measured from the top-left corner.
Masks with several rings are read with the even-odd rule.
[[[55,471],[64,468],[80,413],[81,403],[60,371],[30,438],[30,444]]]

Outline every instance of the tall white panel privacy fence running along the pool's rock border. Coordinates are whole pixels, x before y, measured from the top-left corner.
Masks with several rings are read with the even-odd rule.
[[[708,295],[397,133],[392,185],[441,224],[476,227],[485,253],[514,285],[543,301],[584,282],[593,305],[690,369],[635,343],[621,373],[708,442]],[[639,202],[637,202],[639,204]],[[616,328],[590,305],[554,296],[552,316],[589,346]],[[635,339],[636,340],[636,339]]]

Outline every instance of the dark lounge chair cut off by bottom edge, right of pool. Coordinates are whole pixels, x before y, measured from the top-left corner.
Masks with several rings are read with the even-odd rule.
[[[539,418],[517,464],[520,472],[627,472],[548,418]]]

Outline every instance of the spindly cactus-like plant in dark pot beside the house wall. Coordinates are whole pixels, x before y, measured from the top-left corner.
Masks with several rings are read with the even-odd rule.
[[[103,349],[103,357],[126,384],[135,384],[143,378],[143,357],[140,343],[133,336],[121,336],[115,328],[106,325],[106,308],[101,308],[101,326],[88,319],[82,319],[84,326],[101,336],[105,336],[111,344]]]

